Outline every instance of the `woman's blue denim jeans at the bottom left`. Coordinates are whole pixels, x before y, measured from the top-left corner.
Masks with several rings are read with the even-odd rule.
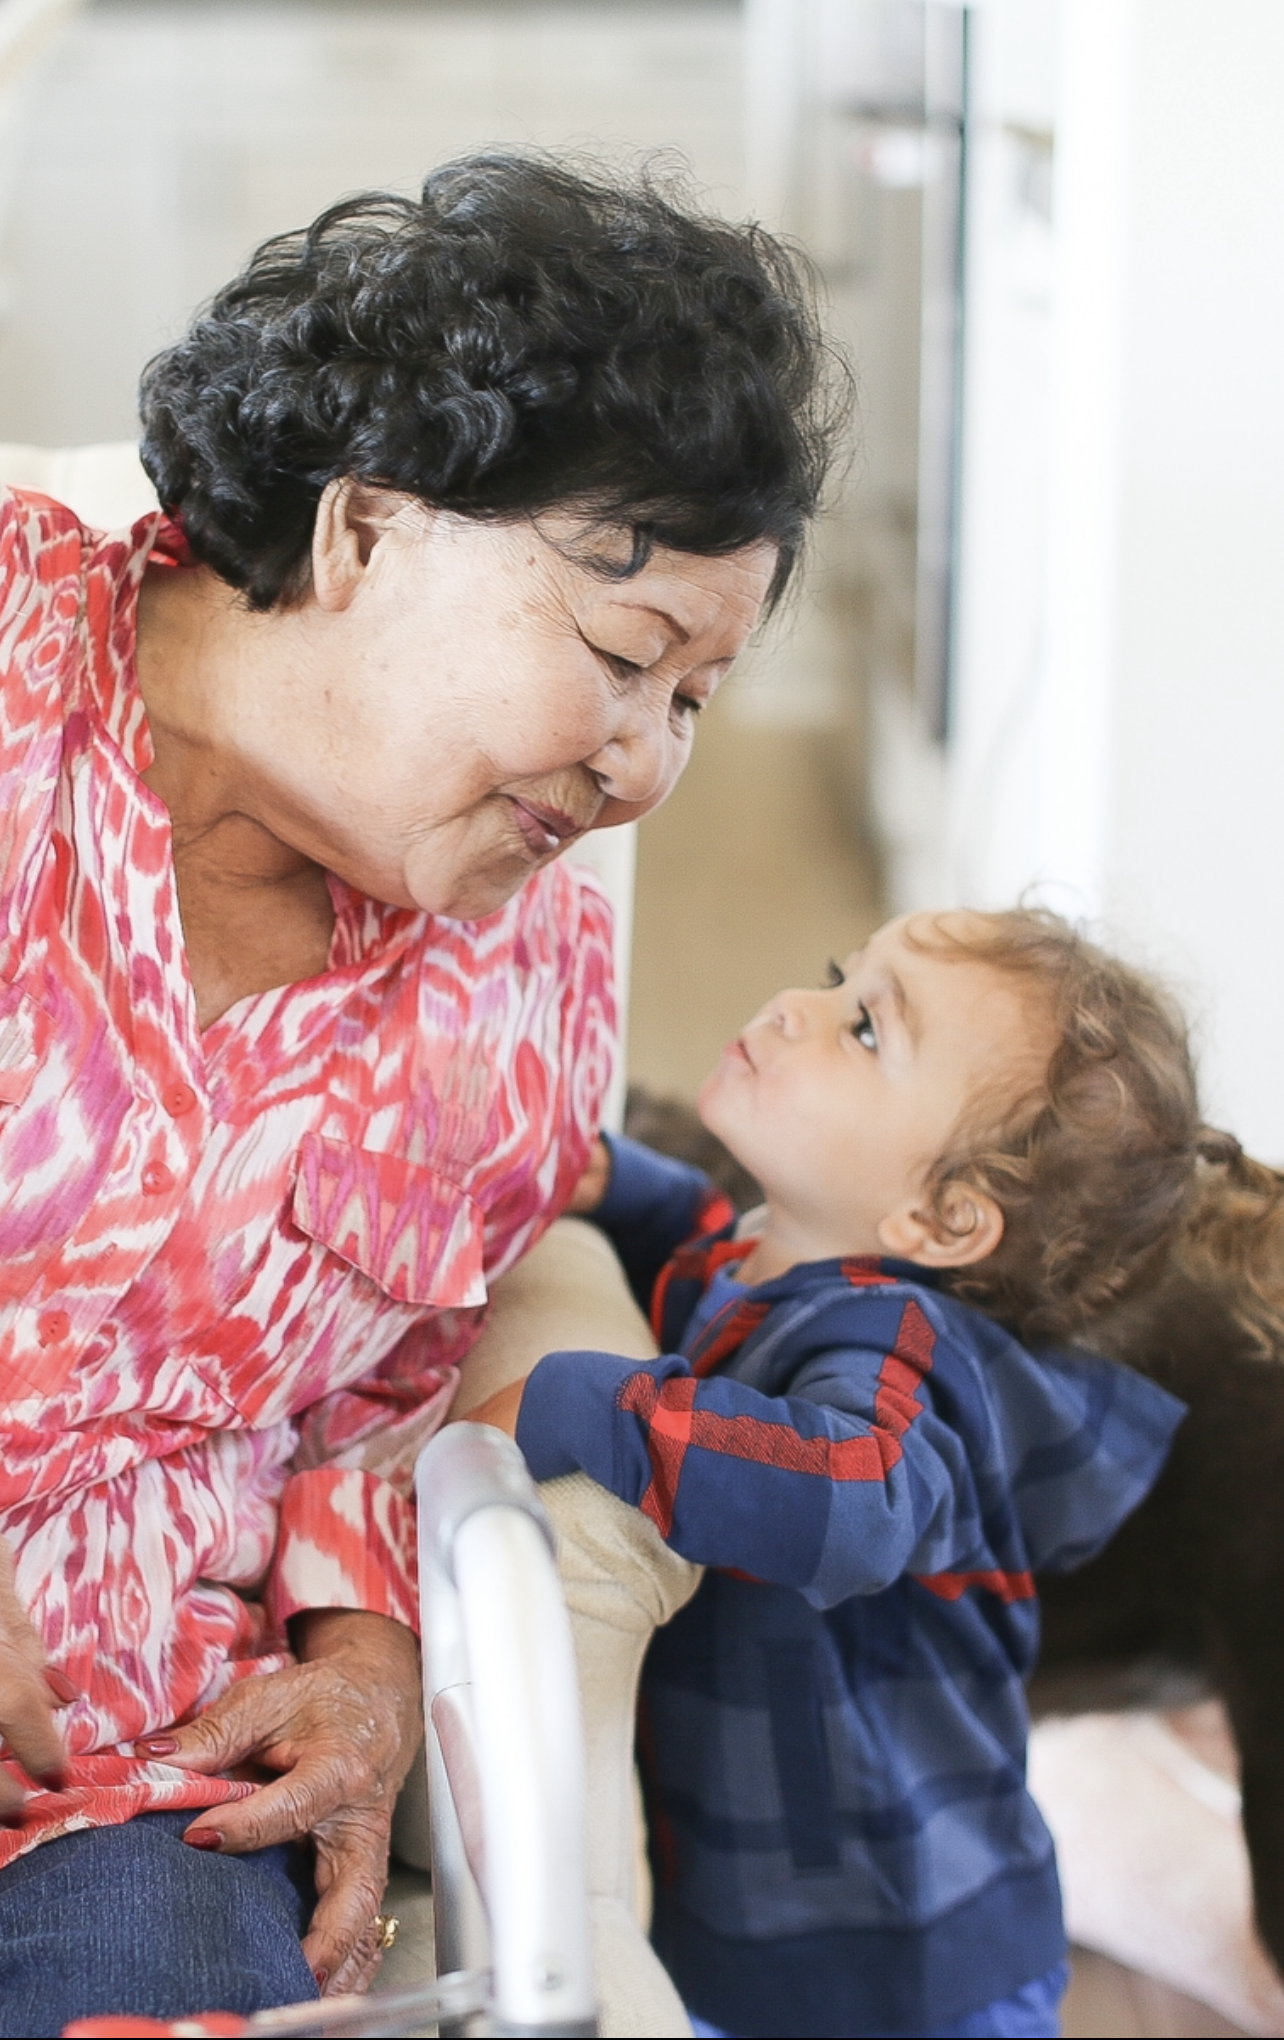
[[[0,2036],[71,2020],[265,2011],[316,1997],[300,1936],[316,1893],[306,1850],[188,1848],[196,1814],[139,1814],[41,1842],[0,1871]]]

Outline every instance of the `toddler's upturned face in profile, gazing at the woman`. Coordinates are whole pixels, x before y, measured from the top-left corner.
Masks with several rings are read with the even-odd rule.
[[[778,991],[700,1089],[700,1118],[757,1177],[800,1259],[951,1265],[949,1240],[923,1242],[915,1220],[927,1175],[978,1091],[1002,1106],[1047,1063],[1047,1022],[1013,979],[957,951],[912,949],[912,926],[880,928],[835,985]]]

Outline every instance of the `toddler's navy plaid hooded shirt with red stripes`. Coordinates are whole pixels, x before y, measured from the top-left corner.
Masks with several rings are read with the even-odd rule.
[[[537,1479],[584,1469],[708,1567],[643,1671],[653,1940],[735,2034],[933,2032],[1066,1952],[1031,1575],[1110,1538],[1184,1410],[908,1263],[729,1285],[733,1224],[674,1255],[708,1210],[612,1142],[596,1218],[663,1357],[553,1353],[516,1430]]]

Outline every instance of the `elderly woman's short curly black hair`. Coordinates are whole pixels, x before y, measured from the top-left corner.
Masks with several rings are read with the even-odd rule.
[[[584,506],[651,547],[780,547],[780,596],[847,422],[806,263],[651,173],[527,155],[345,198],[265,241],[143,373],[143,465],[251,608],[308,588],[355,475],[463,516]]]

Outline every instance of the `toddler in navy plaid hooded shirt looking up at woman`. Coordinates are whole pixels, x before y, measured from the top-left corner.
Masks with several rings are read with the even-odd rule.
[[[578,1193],[661,1357],[551,1353],[476,1412],[708,1567],[643,1671],[655,1946],[696,2032],[1055,2034],[1031,1575],[1106,1542],[1182,1418],[1066,1350],[1227,1153],[1182,1022],[1051,914],[902,918],[698,1108],[749,1222],[629,1140]]]

